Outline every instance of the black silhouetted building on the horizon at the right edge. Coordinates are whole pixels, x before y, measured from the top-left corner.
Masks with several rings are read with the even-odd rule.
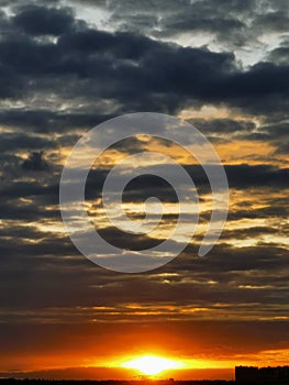
[[[236,366],[235,380],[238,384],[289,384],[289,366],[260,367]]]

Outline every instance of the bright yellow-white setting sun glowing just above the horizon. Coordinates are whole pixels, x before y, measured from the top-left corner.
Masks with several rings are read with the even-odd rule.
[[[134,369],[145,375],[156,375],[163,371],[182,367],[181,362],[156,355],[144,355],[122,363],[122,367]]]

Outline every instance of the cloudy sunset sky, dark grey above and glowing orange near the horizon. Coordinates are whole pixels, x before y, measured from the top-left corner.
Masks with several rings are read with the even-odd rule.
[[[0,7],[0,372],[119,366],[142,354],[178,358],[196,370],[288,363],[289,2]],[[108,148],[86,188],[87,210],[105,240],[149,248],[176,223],[171,186],[147,175],[132,180],[123,199],[136,220],[144,199],[164,201],[157,231],[132,237],[103,216],[109,170],[140,151],[184,165],[201,202],[196,237],[178,257],[124,274],[74,246],[59,180],[88,130],[133,112],[198,128],[224,165],[230,208],[220,240],[198,257],[212,209],[201,165],[152,136]]]

